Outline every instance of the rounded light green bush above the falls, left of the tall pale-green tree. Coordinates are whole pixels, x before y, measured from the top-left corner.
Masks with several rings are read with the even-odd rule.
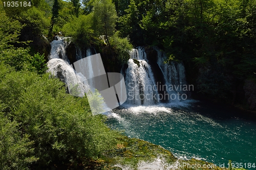
[[[63,27],[63,33],[71,36],[73,42],[80,47],[89,47],[92,40],[91,15],[80,15]]]

